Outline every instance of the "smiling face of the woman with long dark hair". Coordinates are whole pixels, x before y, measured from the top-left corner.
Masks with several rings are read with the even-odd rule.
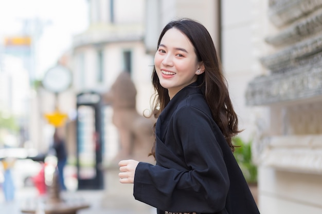
[[[160,85],[168,89],[170,99],[204,72],[204,65],[198,62],[192,43],[176,28],[169,29],[162,37],[154,66]]]

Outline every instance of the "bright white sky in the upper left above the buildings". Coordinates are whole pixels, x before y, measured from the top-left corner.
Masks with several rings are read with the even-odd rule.
[[[38,25],[27,28],[35,41],[35,67],[37,78],[57,63],[59,57],[71,47],[72,37],[88,26],[87,0],[0,0],[0,39],[22,35],[23,20]]]

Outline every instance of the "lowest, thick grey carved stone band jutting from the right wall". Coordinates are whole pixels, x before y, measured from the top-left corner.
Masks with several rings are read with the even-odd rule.
[[[322,65],[310,64],[294,72],[259,76],[248,84],[247,105],[268,105],[322,94]]]

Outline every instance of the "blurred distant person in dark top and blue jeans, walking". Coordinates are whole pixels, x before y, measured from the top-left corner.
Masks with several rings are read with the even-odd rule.
[[[64,182],[64,167],[67,162],[67,151],[65,147],[65,141],[60,137],[58,129],[55,129],[53,133],[53,144],[52,148],[55,149],[57,157],[57,168],[58,168],[58,178],[61,190],[66,190]]]

